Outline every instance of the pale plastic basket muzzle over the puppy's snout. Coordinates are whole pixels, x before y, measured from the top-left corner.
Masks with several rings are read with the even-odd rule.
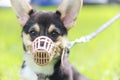
[[[40,66],[48,64],[55,55],[55,45],[53,41],[46,37],[37,37],[32,44],[34,62]]]

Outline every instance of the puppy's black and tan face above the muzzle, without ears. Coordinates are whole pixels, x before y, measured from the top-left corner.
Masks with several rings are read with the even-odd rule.
[[[60,19],[60,13],[52,12],[33,12],[23,27],[23,42],[25,50],[28,51],[33,41],[40,37],[50,38],[55,46],[65,47],[67,29]]]

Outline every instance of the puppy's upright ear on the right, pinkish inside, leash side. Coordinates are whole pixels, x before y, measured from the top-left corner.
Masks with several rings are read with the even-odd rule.
[[[63,0],[58,7],[61,19],[68,30],[73,26],[82,4],[83,0]]]

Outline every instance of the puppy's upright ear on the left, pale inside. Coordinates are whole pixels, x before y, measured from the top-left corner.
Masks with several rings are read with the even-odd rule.
[[[29,19],[29,13],[31,12],[31,10],[33,10],[32,7],[27,2],[27,0],[10,0],[10,1],[20,25],[24,26],[27,20]]]

